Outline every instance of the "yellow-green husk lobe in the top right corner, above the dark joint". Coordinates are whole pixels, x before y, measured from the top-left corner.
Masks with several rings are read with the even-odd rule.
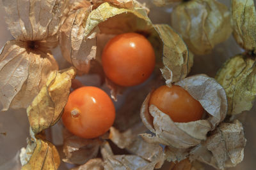
[[[234,38],[245,50],[256,50],[256,11],[253,0],[232,0]]]

